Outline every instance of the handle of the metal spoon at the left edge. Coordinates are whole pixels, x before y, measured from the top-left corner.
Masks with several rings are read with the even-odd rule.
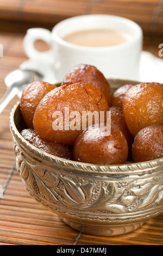
[[[8,89],[7,92],[4,94],[2,99],[0,100],[0,114],[7,107],[8,103],[15,97],[17,94],[17,88]]]

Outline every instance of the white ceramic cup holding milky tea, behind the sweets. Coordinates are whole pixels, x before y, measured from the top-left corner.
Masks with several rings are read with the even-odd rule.
[[[131,35],[123,44],[107,47],[87,47],[71,44],[64,36],[86,29],[115,29]],[[31,60],[46,65],[61,82],[68,71],[78,64],[96,66],[106,78],[136,80],[139,77],[142,29],[137,23],[112,15],[82,15],[63,20],[52,32],[43,28],[31,28],[24,37],[24,51]],[[36,40],[45,41],[49,51],[39,52]]]

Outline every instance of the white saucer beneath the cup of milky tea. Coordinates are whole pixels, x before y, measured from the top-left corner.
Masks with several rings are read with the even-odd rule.
[[[58,83],[60,81],[55,77],[54,71],[49,66],[35,62],[34,60],[27,60],[20,65],[21,69],[32,69],[41,72],[42,80],[48,83]],[[140,73],[137,81],[141,82],[159,82],[163,83],[163,58],[157,58],[152,53],[147,51],[141,52],[140,58]],[[121,78],[121,77],[115,77]],[[128,78],[126,78],[128,79]],[[131,79],[130,79],[131,80]],[[135,78],[133,79],[135,80]]]

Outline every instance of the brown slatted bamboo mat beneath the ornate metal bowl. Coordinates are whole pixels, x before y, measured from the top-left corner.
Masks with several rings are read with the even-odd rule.
[[[7,5],[9,2],[12,1],[1,0],[0,10],[2,3]],[[38,1],[33,2],[36,4]],[[84,0],[82,2],[84,4]],[[85,0],[85,2],[89,1]],[[145,0],[143,2],[147,3]],[[21,1],[16,1],[16,3],[20,4]],[[104,3],[106,4],[106,1],[103,1]],[[77,8],[77,5],[75,6]],[[13,8],[14,5],[11,4],[11,14],[13,14]],[[9,9],[6,10],[9,13]],[[61,19],[61,14],[58,15],[58,19],[59,17]],[[6,90],[5,76],[10,71],[17,69],[24,60],[27,60],[22,46],[24,32],[15,31],[16,25],[13,25],[11,31],[9,20],[5,20],[4,24],[7,27],[0,31],[0,44],[3,45],[4,53],[4,56],[0,57],[0,98]],[[155,45],[151,48],[157,57],[158,44],[160,43],[163,41],[157,38]],[[146,36],[144,49],[148,50],[150,44],[151,38]],[[39,47],[42,45],[40,44]],[[60,220],[60,217],[36,203],[25,190],[15,168],[9,115],[11,108],[17,101],[18,97],[15,96],[0,115],[0,186],[3,186],[4,189],[3,199],[0,199],[0,245],[163,245],[163,214],[148,220],[141,228],[126,235],[92,236],[68,227]]]

